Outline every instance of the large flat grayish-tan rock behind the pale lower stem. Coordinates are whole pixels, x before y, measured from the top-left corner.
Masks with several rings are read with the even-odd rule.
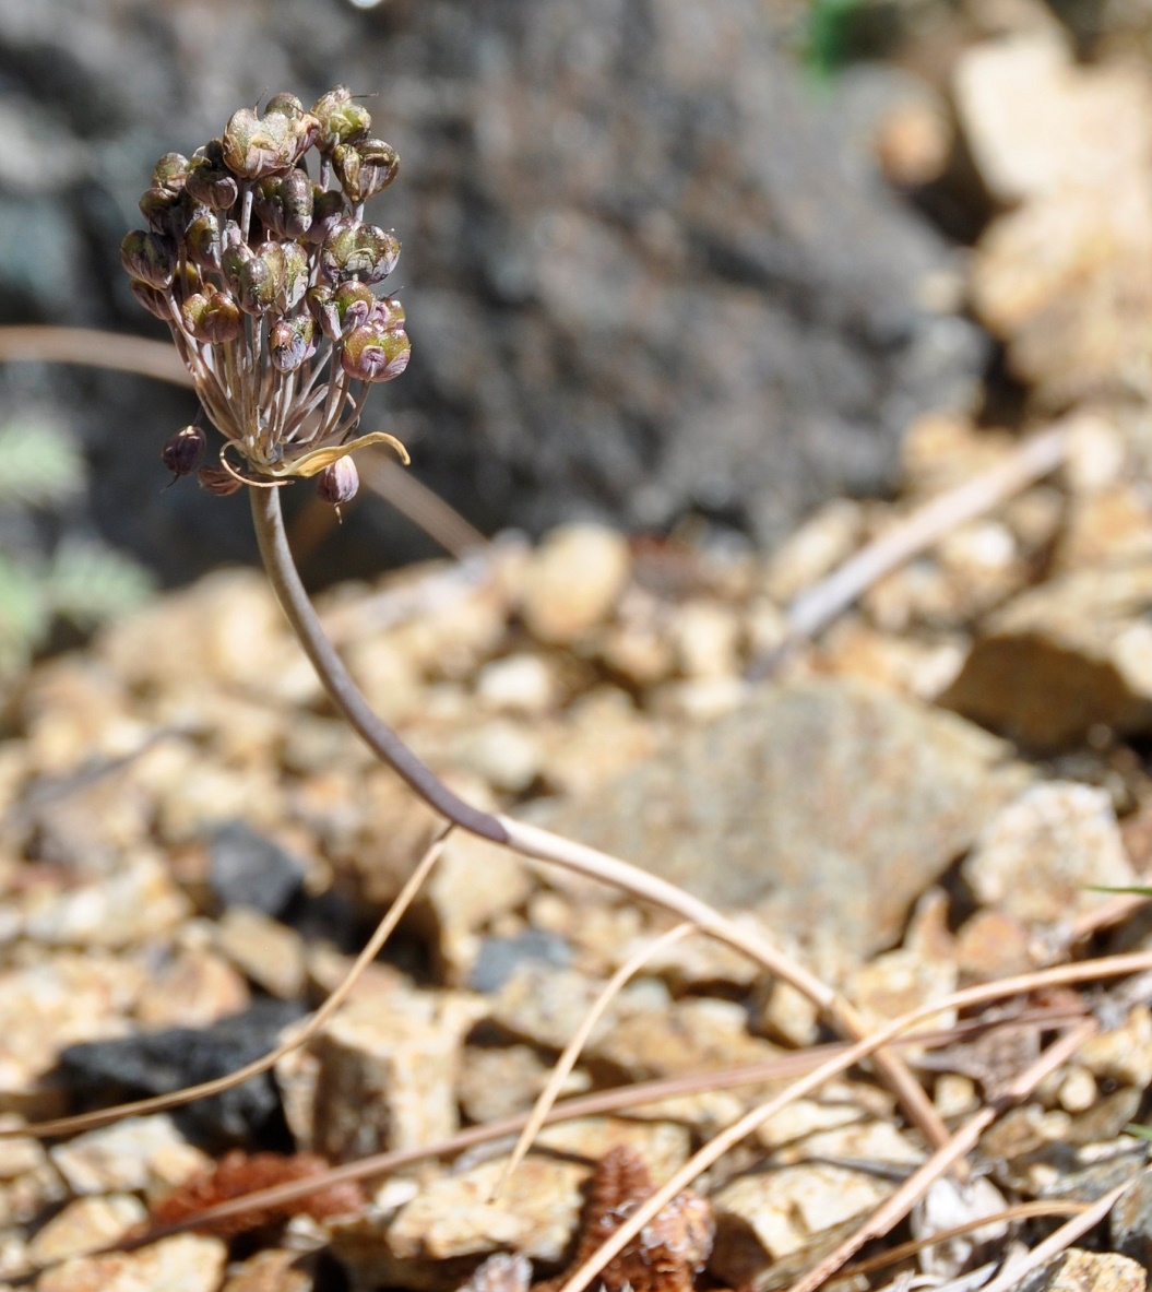
[[[912,903],[1028,778],[949,713],[820,681],[768,690],[539,819],[842,960],[898,942]]]

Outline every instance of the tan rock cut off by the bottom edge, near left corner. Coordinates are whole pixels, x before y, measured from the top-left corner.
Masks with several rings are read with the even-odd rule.
[[[217,1292],[226,1260],[221,1239],[176,1234],[141,1252],[74,1257],[41,1274],[36,1292]]]

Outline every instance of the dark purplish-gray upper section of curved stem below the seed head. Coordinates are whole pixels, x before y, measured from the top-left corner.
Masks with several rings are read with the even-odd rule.
[[[324,690],[332,703],[347,718],[353,729],[372,752],[382,758],[402,780],[429,806],[434,808],[461,829],[491,839],[495,844],[508,842],[508,831],[492,813],[482,811],[466,804],[426,766],[395,731],[368,707],[356,683],[349,676],[344,662],[336,654],[332,642],[324,636],[324,629],[316,619],[316,612],[300,581],[296,562],[288,548],[288,535],[284,532],[284,516],[280,510],[280,491],[274,488],[251,488],[252,521],[256,526],[256,541],[260,556],[276,594],[280,609],[288,616],[292,630],[300,638],[305,654],[324,683]]]

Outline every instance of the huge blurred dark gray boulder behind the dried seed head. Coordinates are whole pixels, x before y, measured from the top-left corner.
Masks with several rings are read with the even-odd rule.
[[[484,527],[695,509],[779,536],[890,484],[908,419],[969,401],[983,358],[921,304],[948,248],[779,36],[758,0],[0,0],[0,229],[25,230],[0,239],[0,313],[150,331],[118,247],[155,156],[270,89],[346,81],[402,158],[372,212],[404,243],[413,360],[373,407],[417,473]],[[242,550],[239,504],[159,496],[186,399],[27,380],[88,393],[118,541],[173,572]],[[373,563],[386,514],[353,522]]]

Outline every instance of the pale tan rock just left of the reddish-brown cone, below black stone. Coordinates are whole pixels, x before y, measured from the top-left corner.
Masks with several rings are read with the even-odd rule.
[[[87,1130],[53,1146],[49,1155],[74,1194],[143,1193],[183,1183],[212,1167],[167,1112]]]

